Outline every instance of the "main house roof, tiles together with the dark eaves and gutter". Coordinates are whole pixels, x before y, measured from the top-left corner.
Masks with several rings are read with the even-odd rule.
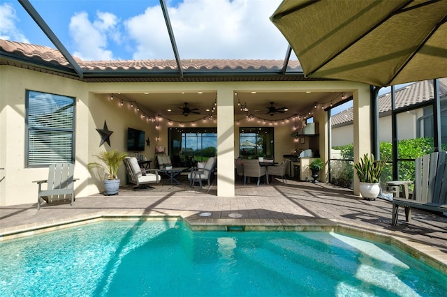
[[[302,75],[299,61],[289,61],[287,73],[282,73],[283,60],[232,60],[232,59],[186,59],[182,60],[182,72],[179,77],[177,62],[173,60],[125,60],[125,61],[82,61],[73,59],[79,64],[85,77],[76,77],[72,66],[64,56],[55,49],[41,45],[30,45],[16,41],[0,39],[0,65],[11,65],[31,70],[46,70],[48,73],[80,79],[88,82],[123,81],[125,78],[141,77],[154,79],[195,81],[216,80],[216,77],[233,77],[241,80],[245,75],[249,80],[328,80],[307,79]],[[258,77],[256,79],[256,76]],[[237,79],[239,77],[239,79]],[[107,80],[105,80],[107,78]],[[199,78],[199,79],[198,79]]]

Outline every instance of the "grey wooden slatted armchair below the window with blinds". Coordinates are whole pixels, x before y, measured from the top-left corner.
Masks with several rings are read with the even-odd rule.
[[[37,210],[41,209],[41,199],[50,203],[55,200],[71,199],[71,206],[75,201],[74,182],[78,178],[73,178],[75,165],[71,163],[52,164],[48,168],[48,178],[41,181],[33,181],[37,183]],[[47,183],[47,190],[42,190],[42,184]]]

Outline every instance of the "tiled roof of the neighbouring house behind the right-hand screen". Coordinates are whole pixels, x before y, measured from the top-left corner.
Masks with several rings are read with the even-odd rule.
[[[439,93],[441,98],[447,96],[447,77],[439,79]],[[395,108],[407,107],[434,98],[433,79],[415,82],[395,90]],[[379,116],[386,116],[391,112],[391,93],[377,98],[379,100]],[[331,116],[332,128],[353,123],[353,107]]]

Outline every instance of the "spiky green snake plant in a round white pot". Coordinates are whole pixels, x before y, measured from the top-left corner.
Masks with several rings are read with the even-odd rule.
[[[380,193],[379,180],[386,160],[374,160],[374,155],[365,153],[363,158],[354,163],[360,181],[360,194],[366,200],[375,200]]]

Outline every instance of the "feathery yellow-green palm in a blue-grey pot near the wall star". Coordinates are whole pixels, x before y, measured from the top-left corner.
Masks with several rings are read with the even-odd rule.
[[[105,187],[105,195],[116,195],[119,190],[120,180],[117,176],[119,165],[121,165],[126,153],[120,153],[117,150],[114,151],[101,151],[98,155],[94,155],[101,162],[89,162],[87,169],[100,169],[103,170],[103,181]]]

